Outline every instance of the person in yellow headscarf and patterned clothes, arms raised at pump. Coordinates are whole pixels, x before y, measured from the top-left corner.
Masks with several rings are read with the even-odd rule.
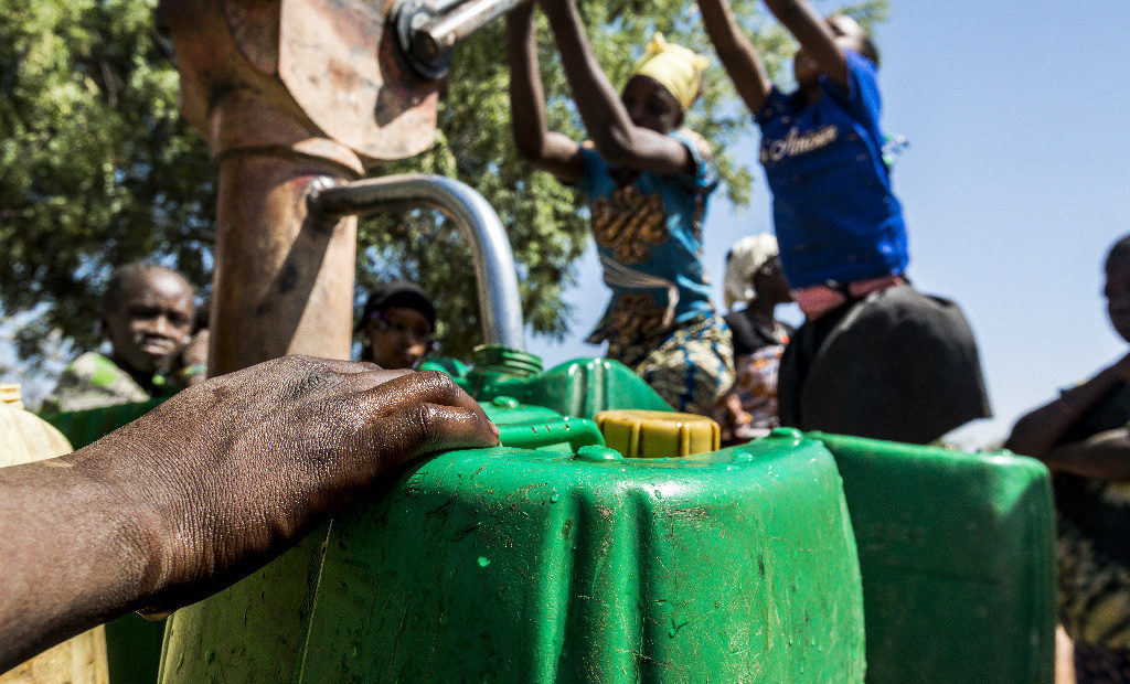
[[[544,0],[565,75],[592,141],[549,131],[533,7],[508,16],[511,106],[520,154],[591,200],[612,298],[589,343],[634,369],[678,410],[709,415],[733,380],[730,334],[714,314],[702,220],[714,189],[702,137],[681,129],[705,60],[658,35],[621,94],[589,47],[573,0]]]

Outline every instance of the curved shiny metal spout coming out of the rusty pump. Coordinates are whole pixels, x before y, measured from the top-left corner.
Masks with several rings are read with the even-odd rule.
[[[310,185],[311,213],[372,216],[428,207],[459,226],[475,262],[483,337],[487,344],[525,349],[522,303],[510,240],[494,208],[470,185],[441,175],[405,174],[339,183],[318,179]]]

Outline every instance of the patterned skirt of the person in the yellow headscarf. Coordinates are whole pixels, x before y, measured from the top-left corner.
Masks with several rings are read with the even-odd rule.
[[[725,321],[711,315],[635,344],[609,343],[607,356],[634,369],[676,410],[711,416],[733,383],[732,349]]]

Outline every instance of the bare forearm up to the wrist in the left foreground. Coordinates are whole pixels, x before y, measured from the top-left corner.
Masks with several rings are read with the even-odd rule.
[[[0,672],[131,608],[153,565],[131,492],[69,457],[0,469]]]

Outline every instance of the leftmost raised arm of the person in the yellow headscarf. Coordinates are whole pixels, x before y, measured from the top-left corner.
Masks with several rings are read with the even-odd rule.
[[[536,168],[563,183],[576,183],[584,171],[581,146],[546,128],[546,97],[538,72],[533,2],[506,15],[510,29],[510,122],[518,153]]]

